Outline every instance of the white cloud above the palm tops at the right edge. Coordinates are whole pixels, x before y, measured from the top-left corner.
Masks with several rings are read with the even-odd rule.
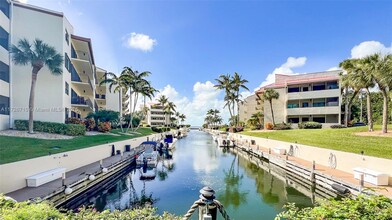
[[[392,47],[385,47],[378,41],[364,41],[351,49],[351,58],[362,58],[374,53],[392,53]]]

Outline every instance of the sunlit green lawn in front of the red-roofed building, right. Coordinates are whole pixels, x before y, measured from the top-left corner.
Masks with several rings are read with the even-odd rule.
[[[389,128],[392,125],[388,126]],[[375,130],[381,130],[380,125]],[[356,132],[366,132],[367,127],[345,129],[293,129],[273,132],[249,132],[242,134],[287,142],[297,142],[315,147],[392,159],[392,137],[357,136]],[[388,132],[392,132],[389,130]]]

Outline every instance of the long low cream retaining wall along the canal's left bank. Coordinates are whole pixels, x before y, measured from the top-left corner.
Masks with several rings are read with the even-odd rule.
[[[158,135],[150,135],[150,140],[156,140]],[[119,141],[114,143],[102,144],[80,150],[68,151],[50,156],[43,156],[29,160],[0,165],[0,193],[9,193],[26,187],[26,177],[45,172],[51,169],[63,167],[66,172],[97,162],[111,156],[114,144],[116,150],[125,150],[125,145],[137,147],[147,137],[140,137]],[[64,157],[64,155],[67,155]]]

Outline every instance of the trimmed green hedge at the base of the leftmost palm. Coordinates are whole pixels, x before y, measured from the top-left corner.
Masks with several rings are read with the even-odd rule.
[[[15,128],[17,130],[27,131],[29,130],[29,121],[15,120]],[[86,133],[86,127],[84,125],[77,124],[34,121],[34,131],[79,136]]]

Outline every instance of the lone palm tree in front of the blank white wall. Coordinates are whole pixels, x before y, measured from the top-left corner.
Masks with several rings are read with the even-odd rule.
[[[31,65],[31,88],[29,98],[29,133],[33,133],[34,118],[34,99],[35,85],[38,78],[38,72],[47,66],[53,75],[61,75],[63,56],[61,56],[54,47],[49,46],[40,39],[35,39],[32,44],[27,39],[18,41],[17,46],[11,47],[12,61],[16,65]]]

